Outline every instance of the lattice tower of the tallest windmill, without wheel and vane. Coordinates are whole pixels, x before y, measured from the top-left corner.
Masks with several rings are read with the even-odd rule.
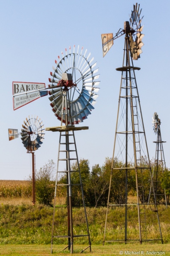
[[[147,141],[144,131],[144,123],[142,118],[142,111],[139,101],[139,93],[137,89],[136,77],[135,77],[135,70],[139,70],[140,68],[133,66],[133,60],[130,57],[130,42],[128,35],[125,36],[125,50],[124,50],[124,57],[123,57],[123,66],[117,68],[116,70],[122,72],[122,79],[120,85],[120,92],[119,92],[119,104],[118,104],[118,113],[117,113],[117,121],[116,121],[116,132],[115,132],[115,140],[114,140],[114,147],[113,147],[113,158],[112,158],[112,166],[111,166],[111,178],[110,178],[110,185],[109,185],[109,193],[108,193],[108,204],[107,204],[107,212],[106,212],[106,219],[105,219],[105,231],[104,231],[104,241],[105,242],[114,242],[114,241],[121,241],[121,242],[128,242],[128,241],[150,241],[150,240],[160,240],[162,242],[161,236],[161,228],[159,223],[159,215],[158,209],[156,205],[156,198],[155,194],[153,199],[153,212],[157,214],[157,221],[159,225],[159,233],[160,239],[148,239],[147,238],[147,214],[146,210],[148,207],[146,189],[144,184],[144,173],[148,173],[151,186],[153,187],[153,180],[152,180],[152,172],[149,160],[149,154],[147,149]],[[122,109],[122,112],[121,112]],[[115,167],[114,166],[114,157],[118,159],[123,166]],[[145,161],[145,157],[146,160]],[[147,165],[145,164],[147,162]],[[112,179],[113,174],[116,171],[120,171],[125,173],[125,201],[124,202],[115,202],[112,200],[111,196],[111,186],[112,186]],[[128,203],[128,179],[130,175],[135,172],[136,176],[136,202],[135,203]],[[148,193],[149,194],[149,193]],[[110,202],[112,200],[112,203]],[[109,239],[106,241],[106,228],[107,228],[107,221],[108,221],[108,211],[112,207],[119,206],[125,207],[125,239]],[[137,208],[138,214],[138,225],[139,227],[139,239],[136,237],[130,237],[130,232],[128,232],[128,214],[127,210],[128,207],[135,207]],[[133,209],[135,209],[133,208]],[[155,219],[155,217],[154,217]]]

